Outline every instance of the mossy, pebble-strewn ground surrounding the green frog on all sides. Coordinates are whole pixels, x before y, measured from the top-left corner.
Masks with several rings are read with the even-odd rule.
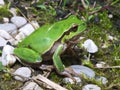
[[[0,90],[120,90],[120,2],[82,1],[0,0]],[[77,59],[68,51],[62,57],[64,65],[80,75],[73,76],[76,82],[16,58],[13,51],[21,40],[71,14],[87,21],[74,48]]]

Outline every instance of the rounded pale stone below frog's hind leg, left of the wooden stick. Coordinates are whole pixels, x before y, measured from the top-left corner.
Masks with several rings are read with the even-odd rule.
[[[16,76],[14,76],[14,78],[16,80],[25,81],[25,80],[27,80],[27,79],[30,78],[30,76],[31,76],[31,70],[28,67],[21,67],[21,68],[18,68],[14,72],[14,74],[16,75]]]

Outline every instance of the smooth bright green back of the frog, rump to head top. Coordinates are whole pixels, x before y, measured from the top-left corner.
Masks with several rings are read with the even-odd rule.
[[[68,18],[52,25],[44,25],[25,38],[19,44],[19,47],[28,47],[40,54],[43,54],[53,46],[55,41],[62,37],[64,32],[71,28],[72,24],[74,25],[79,23],[80,20],[77,19],[77,17],[73,17],[73,19]]]

